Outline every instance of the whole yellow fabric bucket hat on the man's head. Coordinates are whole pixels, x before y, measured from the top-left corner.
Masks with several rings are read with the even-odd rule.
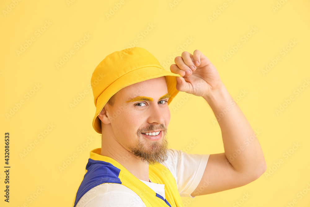
[[[166,78],[168,93],[171,95],[169,104],[179,92],[175,88],[174,76],[182,77],[181,75],[165,70],[150,52],[141,47],[127,48],[106,56],[91,76],[91,88],[96,106],[93,119],[95,131],[102,133],[98,115],[116,92],[134,83],[162,76]]]

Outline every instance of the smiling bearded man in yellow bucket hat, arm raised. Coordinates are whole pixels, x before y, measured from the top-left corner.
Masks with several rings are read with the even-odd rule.
[[[240,187],[265,172],[257,137],[208,58],[199,50],[183,52],[170,70],[140,47],[113,52],[96,67],[93,128],[102,145],[90,153],[74,207],[183,206],[180,196]],[[179,91],[208,102],[224,153],[167,149],[168,104]],[[190,130],[183,121],[179,129]]]

